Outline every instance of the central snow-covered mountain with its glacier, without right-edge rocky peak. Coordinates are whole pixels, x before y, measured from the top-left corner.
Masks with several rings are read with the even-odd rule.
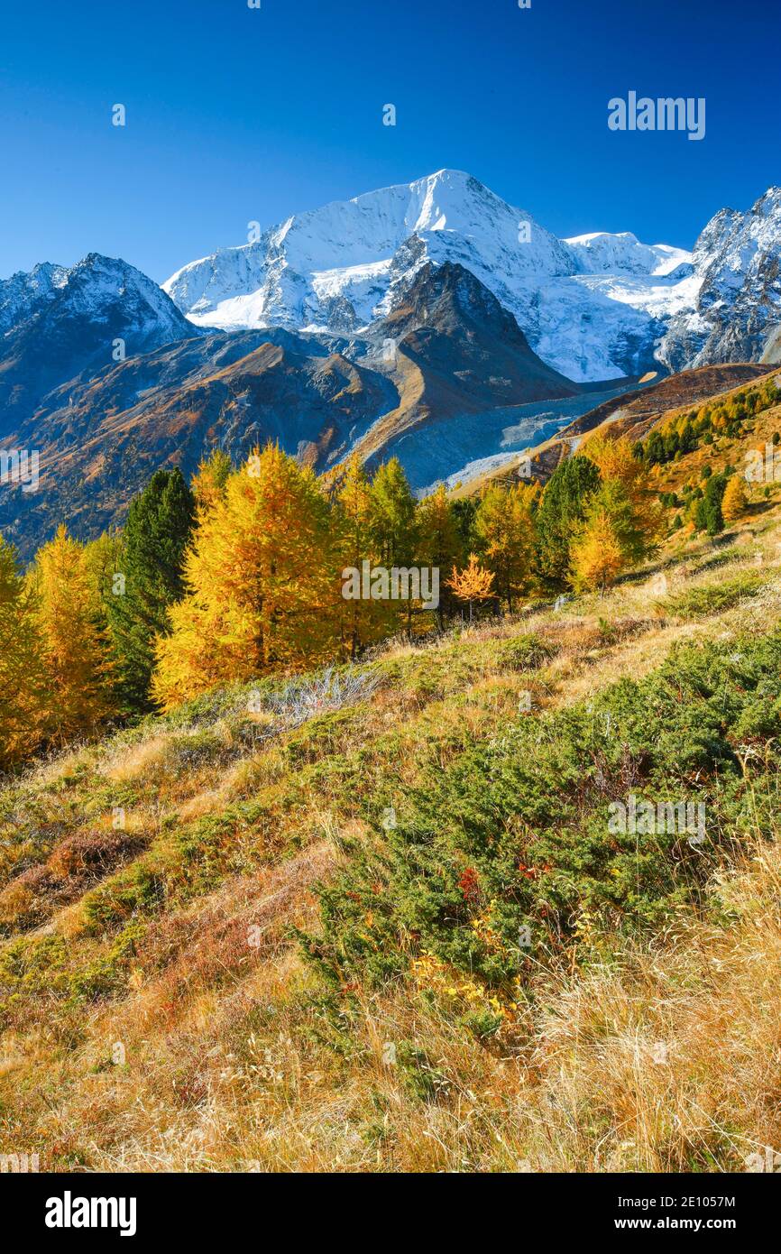
[[[558,240],[471,174],[440,169],[293,214],[163,287],[199,326],[350,334],[385,317],[427,262],[470,270],[575,380],[646,369],[691,275],[681,248],[629,232]]]

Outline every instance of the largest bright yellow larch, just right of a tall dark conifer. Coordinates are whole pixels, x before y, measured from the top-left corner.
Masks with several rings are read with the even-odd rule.
[[[198,518],[191,592],[158,638],[154,698],[170,709],[216,683],[316,666],[336,641],[328,504],[277,445],[228,475]]]

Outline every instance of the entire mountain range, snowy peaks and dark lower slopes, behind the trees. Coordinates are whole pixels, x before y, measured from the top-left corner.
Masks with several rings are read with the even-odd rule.
[[[419,492],[468,485],[628,390],[781,361],[777,187],[691,253],[559,240],[450,169],[256,234],[162,287],[94,253],[0,281],[0,449],[40,458],[40,490],[0,484],[23,556],[55,520],[122,523],[154,469],[216,445],[277,440],[318,472],[395,454]]]

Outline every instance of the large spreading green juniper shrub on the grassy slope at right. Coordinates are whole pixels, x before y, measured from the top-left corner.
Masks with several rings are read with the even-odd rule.
[[[427,769],[397,826],[349,843],[320,888],[320,934],[305,953],[336,984],[382,983],[421,954],[515,987],[528,962],[600,924],[643,930],[702,907],[720,846],[773,804],[781,732],[781,636],[673,651],[651,676],[623,680],[593,707],[524,719]],[[756,740],[751,806],[736,745]],[[629,793],[705,804],[707,834],[609,830]],[[588,947],[584,947],[587,949]]]

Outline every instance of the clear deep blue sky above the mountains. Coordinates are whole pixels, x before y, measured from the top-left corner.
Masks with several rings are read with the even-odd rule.
[[[0,277],[97,251],[162,281],[443,166],[557,234],[688,247],[781,183],[780,35],[776,0],[6,3]],[[609,132],[629,89],[705,97],[706,138]]]

